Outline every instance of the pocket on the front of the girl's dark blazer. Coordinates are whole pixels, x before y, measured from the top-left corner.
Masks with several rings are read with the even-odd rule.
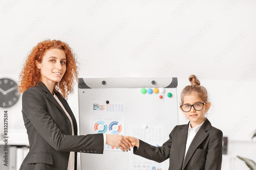
[[[207,149],[196,149],[189,160],[189,166],[193,169],[204,169]]]

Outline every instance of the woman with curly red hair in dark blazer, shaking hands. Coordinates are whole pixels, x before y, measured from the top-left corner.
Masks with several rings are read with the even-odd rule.
[[[102,154],[105,144],[122,151],[132,147],[122,135],[77,135],[66,101],[78,80],[76,64],[72,49],[61,41],[42,41],[29,54],[19,90],[30,148],[20,169],[77,169],[77,152]]]

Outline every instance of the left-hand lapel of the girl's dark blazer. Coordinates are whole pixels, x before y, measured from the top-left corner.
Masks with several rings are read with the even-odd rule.
[[[185,149],[186,149],[186,143],[187,143],[187,137],[188,137],[188,126],[189,123],[183,128],[180,129],[178,132],[178,147],[179,147],[179,163],[180,167],[182,167],[184,155],[185,155]]]

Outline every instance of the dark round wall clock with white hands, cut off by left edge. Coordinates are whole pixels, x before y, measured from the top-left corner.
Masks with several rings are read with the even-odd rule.
[[[11,79],[0,79],[0,107],[11,107],[18,99],[16,82]]]

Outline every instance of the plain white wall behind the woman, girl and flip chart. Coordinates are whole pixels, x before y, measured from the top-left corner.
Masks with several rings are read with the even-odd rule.
[[[100,6],[88,15],[99,2]],[[110,77],[115,72],[118,77],[177,77],[180,94],[189,83],[188,76],[196,74],[208,89],[214,106],[208,115],[212,125],[221,129],[223,135],[234,132],[222,169],[238,169],[243,162],[235,156],[248,157],[256,150],[255,140],[250,140],[256,129],[256,2],[151,0],[141,7],[143,2],[147,1],[2,0],[0,78],[18,81],[28,51],[45,38],[66,41],[73,48],[81,62],[79,77]],[[181,12],[173,17],[176,10]],[[117,32],[115,27],[122,22]],[[157,36],[148,44],[148,37],[155,31]],[[111,33],[114,36],[100,48],[98,44]],[[18,38],[22,40],[14,43]],[[185,51],[191,38],[198,39]],[[234,43],[236,39],[239,42]],[[143,44],[144,49],[132,57]],[[228,53],[218,58],[220,53],[225,54],[225,49]],[[167,70],[166,63],[172,65]],[[241,83],[236,86],[239,80]],[[231,86],[237,88],[228,93]],[[77,89],[68,102],[78,115]],[[8,108],[9,130],[17,131],[22,123],[21,109],[21,100]],[[0,113],[4,110],[0,108]],[[179,112],[179,124],[184,123],[185,116]],[[237,124],[240,128],[234,127]]]

